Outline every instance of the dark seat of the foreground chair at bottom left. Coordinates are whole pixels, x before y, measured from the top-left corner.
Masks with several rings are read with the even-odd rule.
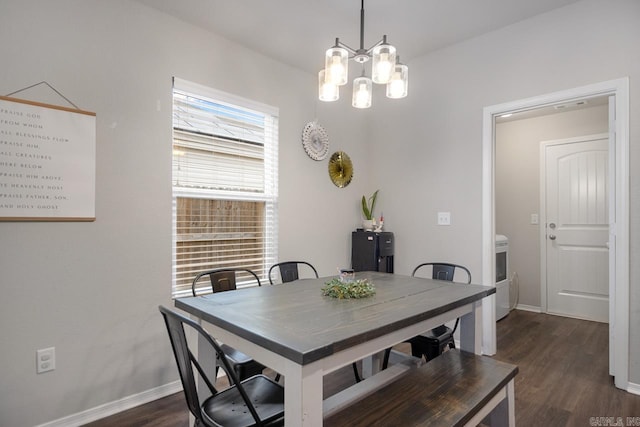
[[[260,419],[269,425],[284,425],[284,388],[264,375],[242,381]],[[226,389],[206,399],[202,413],[210,425],[244,427],[256,425],[236,387]]]

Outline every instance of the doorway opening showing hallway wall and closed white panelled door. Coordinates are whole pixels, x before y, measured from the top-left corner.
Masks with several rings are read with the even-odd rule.
[[[496,118],[495,225],[511,242],[511,307],[608,322],[608,114],[602,96]],[[547,188],[547,175],[562,187]],[[599,242],[576,240],[594,228]]]

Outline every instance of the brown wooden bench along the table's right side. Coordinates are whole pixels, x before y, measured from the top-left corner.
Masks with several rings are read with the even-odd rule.
[[[460,350],[427,364],[324,420],[325,426],[515,425],[518,367]]]

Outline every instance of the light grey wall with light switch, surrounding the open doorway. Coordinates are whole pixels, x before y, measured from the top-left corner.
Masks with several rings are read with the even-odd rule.
[[[630,368],[640,383],[640,2],[584,0],[408,62],[409,96],[373,110],[372,167],[396,271],[450,260],[482,278],[483,108],[628,76]],[[634,83],[635,82],[635,83]],[[436,213],[450,211],[451,226]],[[626,296],[623,296],[626,298]]]

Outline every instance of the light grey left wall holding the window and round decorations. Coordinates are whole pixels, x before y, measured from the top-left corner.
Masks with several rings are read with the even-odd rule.
[[[126,0],[2,0],[0,39],[1,94],[47,81],[97,114],[96,221],[0,223],[0,425],[37,425],[177,380],[157,311],[171,304],[173,76],[280,108],[281,257],[325,275],[348,265],[370,188],[363,117],[316,101],[316,76]],[[68,106],[40,89],[16,96]],[[331,152],[354,160],[345,189],[302,148],[315,118]],[[57,369],[36,375],[36,349],[49,346]]]

